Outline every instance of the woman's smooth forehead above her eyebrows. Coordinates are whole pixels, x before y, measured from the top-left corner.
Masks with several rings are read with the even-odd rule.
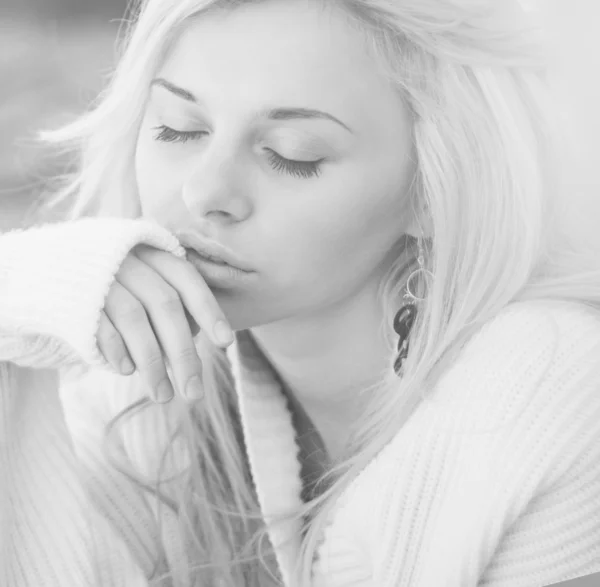
[[[317,2],[247,3],[190,19],[160,75],[209,104],[317,108],[372,124],[398,115],[398,96],[365,47]]]

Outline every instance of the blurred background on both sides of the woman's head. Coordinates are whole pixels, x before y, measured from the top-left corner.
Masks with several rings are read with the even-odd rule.
[[[600,0],[522,1],[547,27],[553,84],[576,136],[569,221],[600,246]],[[126,0],[0,0],[0,231],[18,227],[44,178],[64,169],[35,133],[97,95],[125,10]]]

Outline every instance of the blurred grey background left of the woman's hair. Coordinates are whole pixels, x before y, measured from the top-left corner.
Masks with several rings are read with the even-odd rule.
[[[35,140],[84,110],[115,62],[127,0],[0,0],[0,231],[65,169]]]

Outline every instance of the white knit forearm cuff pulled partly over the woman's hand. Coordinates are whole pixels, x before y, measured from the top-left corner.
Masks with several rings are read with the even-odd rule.
[[[96,344],[100,312],[128,252],[148,244],[185,258],[151,219],[82,218],[0,236],[0,330],[46,334],[82,360],[106,366]]]

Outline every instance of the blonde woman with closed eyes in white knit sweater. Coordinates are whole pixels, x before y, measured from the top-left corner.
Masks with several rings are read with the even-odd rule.
[[[526,25],[141,7],[70,214],[0,239],[2,584],[600,572],[600,271]]]

